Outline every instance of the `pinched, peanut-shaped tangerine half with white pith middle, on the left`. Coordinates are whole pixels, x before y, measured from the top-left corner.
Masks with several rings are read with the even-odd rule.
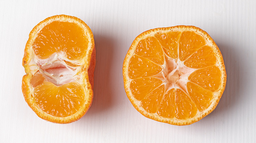
[[[93,33],[82,20],[56,15],[37,24],[23,57],[26,102],[42,119],[70,123],[93,101],[96,50]]]

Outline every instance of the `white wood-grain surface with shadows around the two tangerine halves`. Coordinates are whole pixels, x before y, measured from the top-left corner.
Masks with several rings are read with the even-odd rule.
[[[0,142],[255,142],[256,1],[0,1]],[[40,119],[21,91],[24,48],[47,17],[76,16],[96,45],[94,101],[70,124]],[[227,83],[216,109],[175,126],[142,116],[123,87],[122,64],[136,36],[157,27],[194,25],[219,46]]]

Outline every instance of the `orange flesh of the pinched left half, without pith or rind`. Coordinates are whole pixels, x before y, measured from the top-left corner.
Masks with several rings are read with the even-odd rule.
[[[84,56],[88,43],[84,30],[77,24],[54,21],[44,26],[38,33],[33,43],[33,50],[40,59],[47,59],[54,53],[64,52],[69,60],[77,60]],[[71,69],[79,66],[76,63],[63,61]],[[56,66],[43,71],[55,75],[66,68],[61,64]],[[71,116],[84,104],[84,89],[76,82],[56,86],[49,82],[45,75],[36,72],[32,76],[31,85],[35,87],[34,98],[37,105],[52,116]]]

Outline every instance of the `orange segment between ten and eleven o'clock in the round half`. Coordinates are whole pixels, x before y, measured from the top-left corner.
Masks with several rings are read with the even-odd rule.
[[[149,37],[139,41],[135,54],[154,61],[159,65],[162,65],[164,61],[163,51],[160,43],[154,37]]]

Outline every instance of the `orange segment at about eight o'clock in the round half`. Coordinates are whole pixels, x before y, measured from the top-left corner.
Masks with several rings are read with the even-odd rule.
[[[160,79],[146,77],[138,78],[131,81],[131,91],[137,100],[142,100],[151,91],[159,87],[163,82]]]

